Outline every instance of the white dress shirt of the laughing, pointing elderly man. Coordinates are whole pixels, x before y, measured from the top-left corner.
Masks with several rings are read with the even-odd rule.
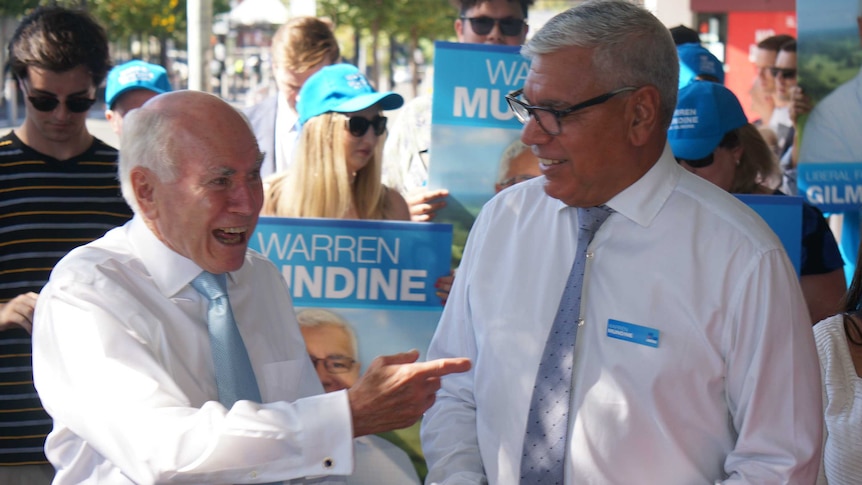
[[[57,264],[33,333],[36,388],[54,419],[45,452],[55,485],[351,472],[346,391],[322,394],[286,284],[253,251],[229,273],[228,294],[267,404],[218,402],[208,303],[189,285],[200,272],[137,217]]]

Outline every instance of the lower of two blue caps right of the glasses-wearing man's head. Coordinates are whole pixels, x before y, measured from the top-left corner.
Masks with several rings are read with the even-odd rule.
[[[729,89],[693,81],[679,90],[667,138],[675,157],[699,160],[712,153],[727,132],[746,124],[742,105]]]

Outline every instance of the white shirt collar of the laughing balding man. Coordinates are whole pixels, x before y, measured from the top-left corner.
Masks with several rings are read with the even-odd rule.
[[[160,241],[138,215],[130,223],[129,240],[156,287],[166,298],[175,296],[203,271],[194,261]],[[227,276],[228,281],[232,281],[232,275],[228,273]]]

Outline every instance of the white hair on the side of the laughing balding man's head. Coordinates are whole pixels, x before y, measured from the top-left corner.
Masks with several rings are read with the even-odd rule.
[[[173,153],[173,131],[176,123],[159,109],[138,108],[123,117],[123,133],[120,135],[119,176],[120,188],[126,203],[138,213],[140,207],[132,188],[132,169],[144,167],[156,174],[162,182],[176,180],[178,171]]]

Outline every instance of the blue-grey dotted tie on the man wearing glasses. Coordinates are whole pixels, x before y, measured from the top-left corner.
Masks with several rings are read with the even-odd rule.
[[[578,252],[560,299],[554,325],[545,343],[530,401],[524,454],[521,457],[521,483],[524,485],[563,483],[569,430],[569,396],[587,246],[611,212],[606,206],[578,208]]]

